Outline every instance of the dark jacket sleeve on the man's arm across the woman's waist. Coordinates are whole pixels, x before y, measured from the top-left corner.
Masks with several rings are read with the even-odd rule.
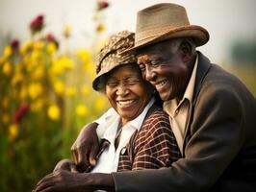
[[[226,87],[205,88],[195,104],[184,158],[169,168],[113,173],[116,191],[206,191],[243,145],[243,104]]]

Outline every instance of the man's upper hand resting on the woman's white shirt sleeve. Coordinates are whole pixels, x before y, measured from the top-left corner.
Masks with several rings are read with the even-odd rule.
[[[97,123],[85,126],[71,147],[74,162],[80,171],[85,171],[90,165],[96,164],[96,156],[99,152],[97,126]]]

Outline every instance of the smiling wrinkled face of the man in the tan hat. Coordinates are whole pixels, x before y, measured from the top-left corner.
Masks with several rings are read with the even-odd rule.
[[[189,41],[174,39],[140,50],[142,77],[155,86],[161,99],[182,99],[192,74],[194,52]]]

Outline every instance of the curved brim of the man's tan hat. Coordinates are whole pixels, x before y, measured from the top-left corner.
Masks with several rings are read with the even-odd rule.
[[[135,46],[121,52],[121,55],[133,53],[147,45],[178,37],[192,37],[196,47],[199,47],[207,43],[210,36],[206,29],[196,25],[190,25],[176,29],[169,29],[166,32],[159,33],[159,35],[151,36],[148,38],[142,38],[141,40],[135,40]]]

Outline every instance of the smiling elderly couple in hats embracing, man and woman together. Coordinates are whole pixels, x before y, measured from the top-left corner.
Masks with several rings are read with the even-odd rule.
[[[98,56],[92,87],[112,108],[34,191],[256,191],[256,101],[196,50],[208,40],[182,6],[138,12]]]

